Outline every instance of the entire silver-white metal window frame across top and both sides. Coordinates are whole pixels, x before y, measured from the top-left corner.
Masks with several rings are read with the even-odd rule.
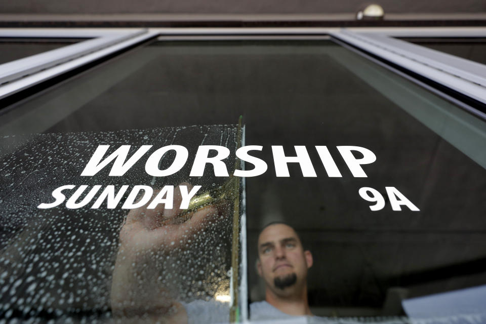
[[[0,99],[155,36],[331,35],[362,51],[486,104],[486,66],[394,37],[483,37],[485,27],[443,28],[3,28],[0,37],[93,37],[84,42],[0,65]],[[3,85],[1,85],[3,84]],[[481,118],[486,114],[473,111]]]

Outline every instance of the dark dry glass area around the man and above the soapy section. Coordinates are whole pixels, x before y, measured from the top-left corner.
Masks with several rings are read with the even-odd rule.
[[[72,111],[51,121],[47,133],[234,125],[243,115],[245,144],[262,145],[255,155],[268,164],[264,175],[247,179],[252,301],[263,298],[254,271],[257,234],[274,220],[293,225],[314,255],[309,295],[316,314],[397,315],[404,297],[486,284],[484,169],[335,60],[346,53],[331,41],[158,42],[13,112],[42,108],[56,119],[56,110]],[[403,90],[435,97],[412,83]],[[428,100],[422,104],[430,108]],[[41,132],[42,122],[22,131]],[[288,155],[305,145],[317,178],[303,178],[295,165],[290,178],[276,178],[271,145]],[[314,145],[329,147],[342,178],[327,177]],[[376,154],[363,166],[368,178],[352,177],[337,145]],[[395,186],[420,212],[394,212],[388,202],[371,212],[358,195],[363,186],[385,197],[385,186]]]

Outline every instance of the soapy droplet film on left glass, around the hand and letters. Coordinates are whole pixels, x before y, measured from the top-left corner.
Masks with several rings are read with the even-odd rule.
[[[226,300],[233,206],[228,203],[231,199],[218,198],[232,197],[225,188],[234,178],[217,178],[211,168],[206,169],[203,177],[190,178],[189,172],[199,145],[221,145],[231,152],[225,160],[231,175],[235,166],[236,133],[236,125],[217,125],[3,138],[0,142],[1,317],[35,318],[43,322],[67,318],[92,321],[111,316],[111,277],[119,230],[128,211],[119,206],[110,210],[106,204],[96,210],[90,209],[91,204],[76,210],[66,209],[64,205],[50,210],[36,208],[42,202],[52,201],[52,190],[65,184],[114,185],[116,190],[122,185],[144,184],[154,190],[182,182],[201,185],[196,196],[210,193],[213,199],[192,210],[218,203],[218,218],[194,234],[185,246],[156,254],[156,280],[179,301]],[[172,144],[188,149],[189,159],[184,168],[164,178],[147,175],[144,165],[149,154]],[[132,145],[129,156],[141,145],[153,147],[123,177],[109,177],[110,166],[93,177],[80,177],[98,145],[110,145],[107,154],[120,145]],[[169,152],[160,161],[160,169],[170,166],[173,159],[173,152]],[[215,192],[218,197],[214,197]],[[182,214],[183,221],[191,215]]]

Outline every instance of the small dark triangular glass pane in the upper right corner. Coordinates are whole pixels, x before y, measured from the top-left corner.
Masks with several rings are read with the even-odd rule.
[[[400,37],[400,39],[432,50],[486,64],[486,38],[484,37]]]

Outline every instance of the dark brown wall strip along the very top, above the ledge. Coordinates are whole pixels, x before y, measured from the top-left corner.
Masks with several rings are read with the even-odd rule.
[[[367,0],[1,0],[0,13],[16,14],[121,14],[121,13],[212,13],[212,14],[332,14],[354,13]],[[380,0],[386,13],[480,13],[484,0]]]

